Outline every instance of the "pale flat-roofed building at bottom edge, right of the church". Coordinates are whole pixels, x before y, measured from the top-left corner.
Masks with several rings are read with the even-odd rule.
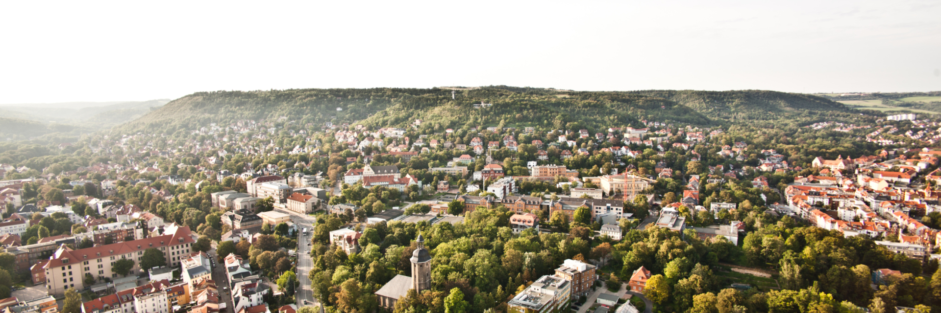
[[[558,275],[545,275],[507,303],[510,313],[554,313],[568,311],[572,282]]]

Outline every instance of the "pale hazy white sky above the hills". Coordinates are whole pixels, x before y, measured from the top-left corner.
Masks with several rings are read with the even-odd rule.
[[[5,1],[0,103],[539,86],[941,90],[941,1]]]

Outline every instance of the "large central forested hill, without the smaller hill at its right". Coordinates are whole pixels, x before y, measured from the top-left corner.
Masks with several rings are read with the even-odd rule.
[[[405,126],[416,118],[442,127],[639,126],[641,119],[709,125],[710,119],[676,102],[625,92],[582,92],[487,86],[452,89],[290,89],[198,92],[116,127],[115,133],[176,133],[209,123],[286,117],[301,123],[360,122]],[[474,109],[474,103],[491,103]],[[338,110],[338,108],[342,110]],[[570,124],[571,123],[571,124]]]

